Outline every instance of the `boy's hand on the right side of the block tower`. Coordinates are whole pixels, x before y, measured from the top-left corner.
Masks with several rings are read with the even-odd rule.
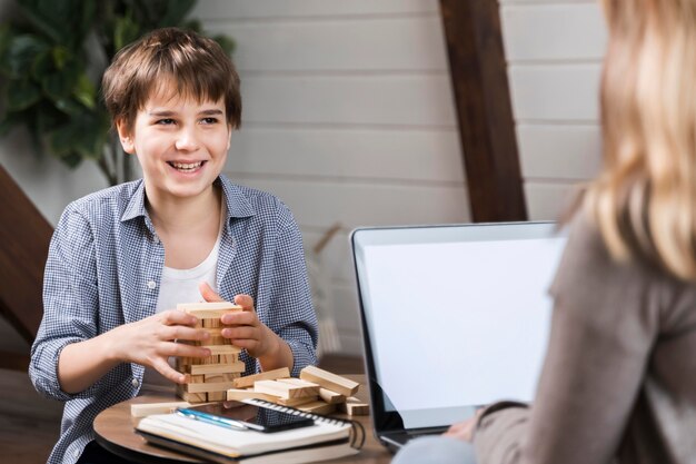
[[[201,283],[199,289],[206,302],[223,302],[208,284]],[[235,304],[241,306],[242,310],[220,317],[226,326],[222,328],[222,336],[256,358],[274,356],[282,340],[259,320],[253,309],[253,298],[249,295],[237,295]]]

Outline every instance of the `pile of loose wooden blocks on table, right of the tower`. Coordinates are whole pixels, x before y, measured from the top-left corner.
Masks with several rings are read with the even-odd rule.
[[[367,415],[369,406],[354,397],[360,384],[315,366],[300,371],[291,378],[287,367],[236,378],[227,399],[265,399],[291,406],[307,413],[330,414],[341,411],[348,415]]]

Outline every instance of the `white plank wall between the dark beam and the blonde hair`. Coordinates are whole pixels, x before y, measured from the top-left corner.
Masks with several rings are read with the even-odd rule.
[[[606,26],[595,0],[499,0],[530,219],[555,219],[600,165]]]

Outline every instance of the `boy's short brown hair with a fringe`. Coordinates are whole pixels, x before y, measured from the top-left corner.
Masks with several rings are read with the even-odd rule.
[[[116,55],[101,82],[112,121],[132,129],[138,110],[170,81],[178,95],[198,101],[223,98],[227,122],[239,127],[241,95],[232,60],[215,40],[177,28],[157,29]]]

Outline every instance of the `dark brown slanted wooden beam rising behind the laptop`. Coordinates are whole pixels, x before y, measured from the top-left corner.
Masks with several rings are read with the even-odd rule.
[[[475,223],[526,220],[498,2],[440,0]]]

